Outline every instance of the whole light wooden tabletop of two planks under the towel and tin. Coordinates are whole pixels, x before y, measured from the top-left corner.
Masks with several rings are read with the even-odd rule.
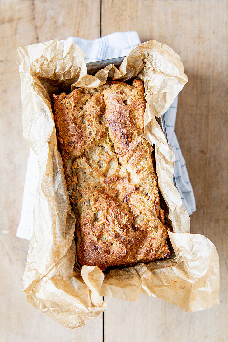
[[[227,1],[1,1],[1,341],[227,341]],[[168,44],[189,82],[179,95],[176,134],[197,211],[193,233],[220,257],[220,305],[186,313],[161,299],[106,298],[104,315],[70,330],[35,310],[21,290],[28,241],[16,238],[29,146],[22,136],[15,47],[53,38],[138,31]]]

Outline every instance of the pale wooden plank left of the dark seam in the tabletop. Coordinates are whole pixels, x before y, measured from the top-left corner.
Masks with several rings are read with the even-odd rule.
[[[28,143],[22,136],[21,86],[15,47],[68,36],[98,38],[100,0],[1,1],[0,17],[0,339],[101,342],[102,315],[83,328],[71,330],[27,303],[21,285],[28,241],[15,235],[29,153]]]

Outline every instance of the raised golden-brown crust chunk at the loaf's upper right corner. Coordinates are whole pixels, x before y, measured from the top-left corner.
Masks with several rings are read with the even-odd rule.
[[[109,128],[119,155],[134,150],[137,138],[143,133],[145,98],[143,84],[135,79],[133,86],[123,82],[110,82],[104,89],[105,125]]]

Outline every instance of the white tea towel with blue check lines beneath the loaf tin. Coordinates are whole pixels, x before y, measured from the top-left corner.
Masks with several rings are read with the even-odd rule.
[[[77,44],[85,53],[85,61],[94,62],[114,57],[126,56],[136,45],[140,43],[137,32],[115,32],[95,40],[86,40],[78,37],[69,37],[69,41]],[[177,97],[172,106],[166,111],[165,122],[168,134],[168,142],[176,155],[175,177],[179,193],[188,213],[195,211],[195,198],[185,160],[180,151],[174,132],[177,113]],[[35,204],[35,193],[38,184],[38,162],[37,156],[30,149],[25,177],[24,194],[22,202],[21,220],[17,228],[16,236],[30,240],[33,231],[33,208]]]

